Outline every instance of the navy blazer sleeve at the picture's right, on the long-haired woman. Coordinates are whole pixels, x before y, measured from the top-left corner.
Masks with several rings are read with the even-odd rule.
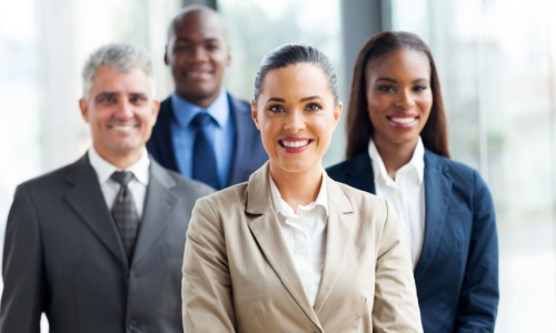
[[[493,198],[475,171],[473,230],[461,285],[457,332],[494,332],[498,311],[498,236]]]

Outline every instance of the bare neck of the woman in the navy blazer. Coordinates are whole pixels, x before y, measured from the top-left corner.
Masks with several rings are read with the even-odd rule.
[[[386,172],[391,179],[396,179],[396,171],[411,161],[417,147],[418,138],[410,142],[394,143],[380,138],[373,138]]]

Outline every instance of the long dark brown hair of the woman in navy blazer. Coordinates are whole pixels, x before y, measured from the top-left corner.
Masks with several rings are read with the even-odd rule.
[[[361,153],[368,148],[373,135],[373,123],[370,122],[367,105],[367,80],[366,70],[373,60],[385,54],[409,49],[427,56],[430,64],[430,90],[433,92],[433,107],[430,115],[420,132],[423,144],[428,150],[449,158],[448,128],[446,112],[444,111],[440,82],[436,71],[433,53],[427,44],[417,34],[409,32],[384,31],[374,34],[363,46],[354,68],[354,79],[347,108],[347,148],[346,158]]]

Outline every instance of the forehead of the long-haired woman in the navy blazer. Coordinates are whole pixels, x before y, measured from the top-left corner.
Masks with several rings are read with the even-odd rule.
[[[430,79],[430,63],[427,54],[411,50],[399,49],[386,53],[367,64],[367,77],[398,77],[409,79]]]

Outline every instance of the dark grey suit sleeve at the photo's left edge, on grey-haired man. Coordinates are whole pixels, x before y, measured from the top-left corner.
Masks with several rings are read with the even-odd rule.
[[[37,211],[23,185],[8,215],[2,262],[0,332],[39,333],[46,280]]]

